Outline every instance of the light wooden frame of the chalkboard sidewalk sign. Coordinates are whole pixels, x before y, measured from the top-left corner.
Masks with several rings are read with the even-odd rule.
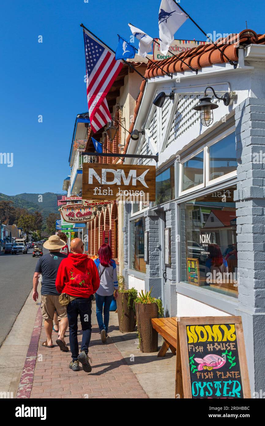
[[[192,398],[191,374],[189,367],[189,354],[187,342],[187,325],[215,325],[234,324],[237,335],[237,348],[239,357],[240,374],[242,381],[243,398],[251,398],[251,390],[248,377],[248,364],[245,353],[245,340],[241,317],[180,317],[177,319],[177,359],[176,359],[176,388],[175,397]]]

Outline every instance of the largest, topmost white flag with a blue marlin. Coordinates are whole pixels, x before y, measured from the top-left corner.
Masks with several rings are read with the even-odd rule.
[[[158,27],[160,38],[160,51],[163,55],[168,53],[169,46],[174,40],[175,32],[182,26],[188,15],[182,12],[172,0],[162,0],[159,14]]]

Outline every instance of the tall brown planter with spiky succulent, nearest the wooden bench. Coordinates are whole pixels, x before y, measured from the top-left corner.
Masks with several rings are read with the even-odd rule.
[[[151,296],[151,291],[141,291],[135,300],[135,311],[141,352],[158,351],[158,333],[152,327],[152,318],[163,316],[162,301]]]

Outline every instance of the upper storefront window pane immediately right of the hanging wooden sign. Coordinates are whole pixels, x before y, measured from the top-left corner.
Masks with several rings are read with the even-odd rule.
[[[175,167],[169,167],[156,177],[155,205],[165,203],[175,198]]]

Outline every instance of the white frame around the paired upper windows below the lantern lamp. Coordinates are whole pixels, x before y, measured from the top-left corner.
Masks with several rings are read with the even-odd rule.
[[[222,133],[219,133],[215,138],[211,139],[211,141],[206,142],[204,145],[199,147],[194,153],[191,155],[187,155],[185,158],[182,159],[180,163],[180,170],[179,170],[179,196],[187,195],[191,192],[197,191],[202,188],[207,188],[210,186],[213,186],[215,184],[218,184],[222,181],[227,181],[233,177],[237,176],[237,170],[234,170],[234,172],[227,173],[223,176],[219,176],[218,178],[209,180],[209,172],[210,172],[210,155],[209,155],[209,148],[217,144],[222,139],[226,138],[227,136],[234,133],[235,127],[230,127],[229,129],[224,130]],[[200,185],[197,185],[196,187],[189,188],[188,190],[182,191],[182,172],[183,172],[183,164],[191,160],[193,157],[195,157],[197,154],[204,152],[203,156],[203,183]]]

